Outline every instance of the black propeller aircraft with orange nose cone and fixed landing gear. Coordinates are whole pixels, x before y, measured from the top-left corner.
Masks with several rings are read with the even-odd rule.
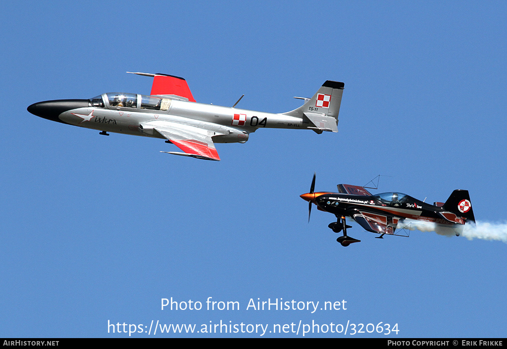
[[[312,203],[317,205],[318,210],[334,214],[337,221],[331,223],[329,228],[335,233],[343,231],[343,236],[336,240],[345,247],[360,242],[347,235],[347,228],[351,226],[347,225],[346,217],[352,218],[365,230],[380,234],[377,238],[383,238],[384,235],[408,236],[397,233],[396,229],[411,230],[411,225],[417,226],[419,222],[432,224],[437,233],[452,232],[456,235],[461,233],[465,223],[475,225],[467,190],[457,189],[446,202],[434,202],[431,205],[407,194],[389,192],[374,195],[365,187],[349,184],[338,184],[338,193],[315,192],[314,189],[315,173],[310,192],[301,195],[309,202],[308,222]]]

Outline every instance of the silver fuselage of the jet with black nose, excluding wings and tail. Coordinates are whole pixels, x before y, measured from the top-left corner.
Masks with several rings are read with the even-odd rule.
[[[171,121],[213,131],[215,135],[212,137],[215,143],[244,143],[248,139],[248,134],[255,132],[258,128],[304,129],[311,125],[302,118],[282,114],[254,112],[140,94],[136,95],[139,101],[149,97],[152,100],[162,99],[169,105],[166,110],[142,108],[140,102],[132,107],[112,106],[113,103],[110,103],[110,100],[114,98],[111,97],[113,95],[122,96],[126,93],[102,94],[102,106],[99,103],[93,106],[92,101],[88,99],[64,99],[34,103],[28,107],[28,111],[45,119],[70,125],[157,138],[164,137],[153,132],[151,126],[161,121]],[[157,107],[154,104],[153,108],[160,108],[160,106]]]

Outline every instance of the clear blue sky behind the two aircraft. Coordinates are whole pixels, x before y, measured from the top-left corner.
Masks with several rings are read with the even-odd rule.
[[[506,10],[504,2],[5,4],[0,337],[128,337],[108,322],[197,331],[221,320],[268,325],[263,337],[347,322],[365,333],[305,336],[504,337],[504,242],[420,231],[380,240],[353,224],[349,235],[361,242],[343,248],[327,227],[334,216],[314,208],[308,224],[299,195],[314,171],[320,191],[380,174],[376,192],[433,202],[467,189],[478,221],[504,223]],[[273,113],[297,108],[292,97],[325,80],[343,81],[339,132],[259,130],[245,144],[217,145],[222,161],[212,162],[162,154],[177,149],[160,139],[103,137],[26,111],[48,99],[148,94],[152,80],[127,71],[182,76],[203,103],[232,106],[244,93],[238,107]],[[161,310],[171,297],[203,309]],[[208,297],[240,309],[206,310]],[[345,300],[347,309],[247,310],[258,298],[319,308]],[[298,334],[269,333],[300,322]],[[366,332],[381,322],[399,333]]]

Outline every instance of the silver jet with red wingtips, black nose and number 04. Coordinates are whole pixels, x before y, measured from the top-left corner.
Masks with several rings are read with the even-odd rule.
[[[130,72],[127,72],[130,73]],[[259,128],[310,129],[338,132],[338,113],[344,84],[326,81],[303,106],[271,114],[197,103],[183,78],[148,73],[150,95],[103,93],[91,99],[48,100],[31,104],[31,114],[85,128],[165,139],[183,152],[162,153],[216,160],[215,143],[245,143]],[[242,96],[241,96],[242,97]]]

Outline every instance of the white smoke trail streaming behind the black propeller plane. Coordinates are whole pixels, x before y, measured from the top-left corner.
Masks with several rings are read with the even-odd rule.
[[[458,233],[459,235],[466,237],[468,240],[483,239],[507,243],[507,223],[476,221],[476,226],[473,224],[465,224],[464,226],[456,224],[454,227],[449,227],[431,222],[405,219],[398,223],[396,230],[398,229],[434,231],[437,234],[446,236],[453,236]]]

